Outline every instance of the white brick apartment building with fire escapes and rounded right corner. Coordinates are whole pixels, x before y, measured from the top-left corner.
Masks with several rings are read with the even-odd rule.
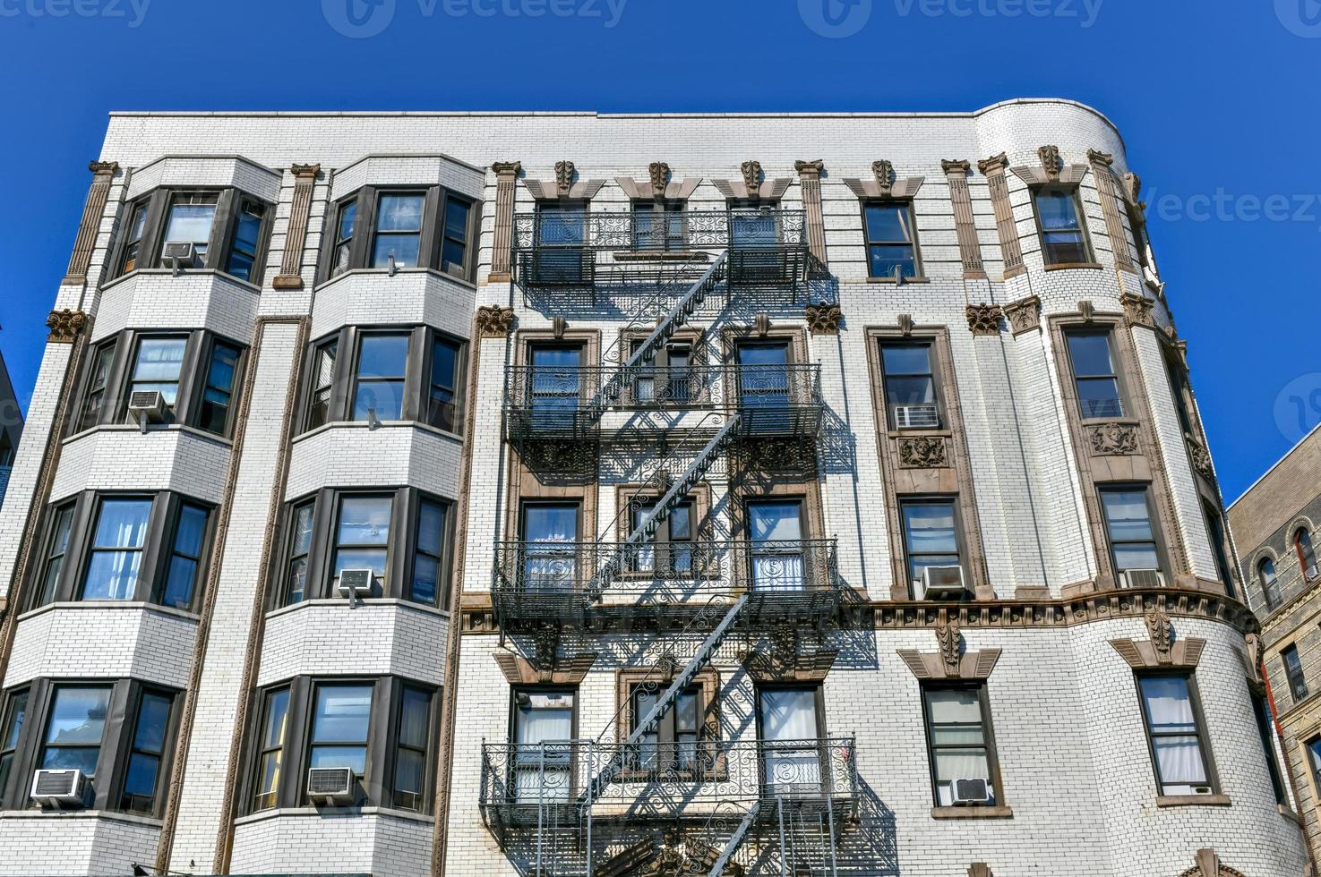
[[[0,874],[1308,868],[1094,110],[122,114],[92,172]]]

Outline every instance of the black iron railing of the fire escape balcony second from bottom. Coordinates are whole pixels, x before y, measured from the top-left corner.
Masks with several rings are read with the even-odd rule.
[[[596,571],[620,563],[602,593]],[[749,594],[749,610],[834,612],[840,579],[834,539],[666,542],[505,542],[495,547],[495,609],[502,621],[576,617],[590,608],[662,609]]]

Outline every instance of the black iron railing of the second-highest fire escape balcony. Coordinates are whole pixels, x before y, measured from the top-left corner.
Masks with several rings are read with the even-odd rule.
[[[807,435],[820,425],[820,366],[649,366],[602,398],[613,368],[510,366],[505,409],[517,429],[573,436],[590,429],[596,405],[616,411],[738,411],[742,431]]]

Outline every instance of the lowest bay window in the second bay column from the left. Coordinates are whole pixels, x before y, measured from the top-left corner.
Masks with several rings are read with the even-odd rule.
[[[346,767],[358,803],[428,812],[436,689],[394,676],[297,676],[259,693],[246,812],[305,807],[312,769]]]

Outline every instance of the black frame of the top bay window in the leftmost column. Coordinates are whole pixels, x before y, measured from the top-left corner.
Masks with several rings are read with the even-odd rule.
[[[112,255],[107,260],[107,264],[112,267],[112,272],[107,279],[118,280],[119,277],[127,277],[128,275],[140,271],[169,273],[172,267],[162,263],[161,248],[166,243],[165,227],[169,218],[170,205],[178,195],[196,194],[215,195],[215,218],[211,221],[211,231],[207,240],[206,268],[196,268],[193,271],[214,271],[234,279],[236,283],[247,283],[254,287],[262,287],[267,260],[269,258],[271,228],[275,226],[275,205],[259,195],[252,194],[251,192],[246,192],[235,186],[162,186],[128,202],[123,211],[124,222],[115,235],[111,251]],[[234,247],[234,234],[238,227],[239,213],[244,201],[259,203],[266,210],[266,215],[262,221],[262,230],[258,235],[258,251],[251,269],[251,277],[254,277],[252,280],[243,280],[242,277],[230,273],[227,269]],[[145,221],[141,236],[139,239],[133,239],[129,238],[129,235],[133,232],[137,210],[145,210]],[[136,264],[133,268],[125,271],[125,258],[129,254],[129,247],[135,242],[139,247]],[[225,268],[219,268],[218,265],[225,265]]]

